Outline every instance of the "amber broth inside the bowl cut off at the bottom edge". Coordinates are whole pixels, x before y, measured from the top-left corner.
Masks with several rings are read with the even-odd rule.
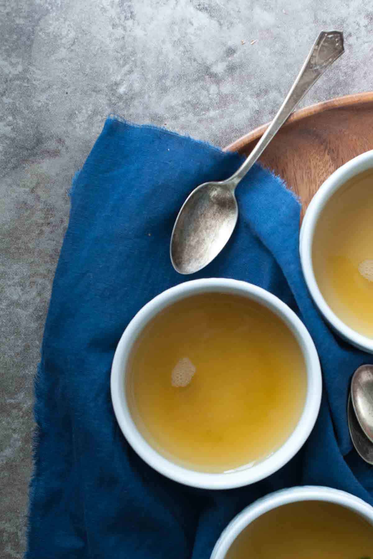
[[[270,510],[235,539],[226,559],[373,559],[373,526],[333,503]]]

